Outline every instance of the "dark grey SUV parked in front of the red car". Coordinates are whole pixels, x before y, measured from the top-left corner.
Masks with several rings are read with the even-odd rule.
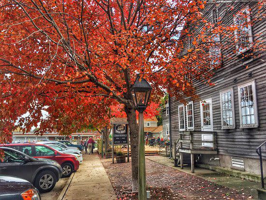
[[[62,175],[61,166],[53,160],[33,158],[15,149],[0,147],[0,174],[11,175],[32,183],[40,192],[51,191]]]

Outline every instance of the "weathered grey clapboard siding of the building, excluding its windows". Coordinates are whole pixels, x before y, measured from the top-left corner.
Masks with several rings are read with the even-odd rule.
[[[208,3],[208,9],[204,15],[207,18],[211,17],[210,12],[215,3]],[[227,7],[227,3],[219,4],[219,16],[222,16],[223,23],[233,24],[233,14],[236,13],[236,9],[240,9],[249,5],[251,10],[251,19],[257,15],[256,2],[245,1],[235,5],[235,9],[229,12],[225,12],[224,8]],[[264,10],[262,15],[266,14]],[[252,26],[253,41],[266,40],[266,19],[255,21]],[[223,38],[221,38],[223,42]],[[242,58],[242,56],[233,53],[235,46],[231,46],[227,49],[222,49],[223,60],[222,67],[216,70],[214,77],[211,81],[216,83],[215,86],[209,87],[200,81],[194,81],[197,94],[201,100],[211,98],[212,99],[212,114],[213,114],[213,131],[217,132],[217,149],[218,154],[232,155],[239,157],[258,158],[255,152],[257,146],[266,140],[266,52],[254,51],[253,58]],[[226,55],[230,55],[232,58],[228,58]],[[248,68],[246,69],[246,66]],[[249,77],[249,73],[252,73]],[[259,119],[258,128],[239,128],[240,116],[238,106],[238,91],[237,85],[244,82],[255,80],[256,96],[257,96],[257,111]],[[220,91],[226,88],[233,88],[234,105],[235,105],[235,123],[236,128],[222,130],[221,122],[221,107],[220,107]],[[187,99],[189,100],[189,98]],[[174,96],[171,97],[171,134],[172,145],[177,141],[178,135],[178,105],[181,103]],[[194,107],[194,130],[201,131],[201,119],[200,119],[200,100],[193,101]],[[168,117],[168,116],[167,116]],[[185,113],[186,119],[186,113]],[[167,120],[163,117],[163,120]],[[164,122],[163,122],[164,123]],[[167,122],[168,123],[168,122]],[[187,124],[185,123],[187,128]],[[264,155],[266,155],[266,151]],[[264,156],[266,159],[266,156]]]

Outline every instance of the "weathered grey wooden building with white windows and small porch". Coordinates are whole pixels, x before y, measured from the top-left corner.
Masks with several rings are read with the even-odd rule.
[[[249,17],[244,20],[252,20],[258,15],[256,1],[235,1],[228,11],[229,3],[232,2],[207,1],[204,15],[214,22],[222,18],[228,25],[236,23],[239,10],[246,9]],[[264,9],[261,14],[265,13]],[[180,156],[191,154],[192,163],[201,167],[218,166],[260,173],[256,148],[266,140],[266,52],[253,49],[252,57],[244,57],[242,53],[250,51],[249,45],[253,42],[265,41],[265,18],[255,20],[243,31],[252,43],[246,48],[220,49],[222,66],[211,78],[215,86],[193,82],[200,100],[187,98],[187,104],[182,104],[180,99],[170,97],[169,135],[178,163]],[[164,135],[169,130],[166,124],[169,124],[169,117],[164,108]],[[263,159],[266,173],[265,149]]]

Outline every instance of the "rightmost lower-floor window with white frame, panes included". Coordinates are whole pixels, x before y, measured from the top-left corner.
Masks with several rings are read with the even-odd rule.
[[[240,128],[258,127],[255,81],[238,86]]]

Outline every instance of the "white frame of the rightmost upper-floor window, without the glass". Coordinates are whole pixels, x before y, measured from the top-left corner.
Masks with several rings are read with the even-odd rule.
[[[247,14],[248,14],[248,17],[247,17],[247,21],[248,21],[248,23],[251,21],[251,13],[250,13],[250,11],[249,11],[249,6],[248,7],[246,7],[245,9],[243,9],[243,10],[241,10],[241,12],[243,12],[243,11],[247,11]],[[240,12],[240,11],[239,11]],[[236,15],[235,15],[235,17],[234,17],[234,24],[236,25],[236,17],[238,16],[238,14],[236,13]],[[251,25],[250,24],[248,24],[248,29],[249,29],[249,42],[250,43],[252,43],[253,42],[253,35],[252,35],[252,29],[251,29]],[[237,45],[237,38],[238,38],[238,36],[237,36],[237,30],[235,30],[235,40],[236,40],[236,54],[241,54],[241,53],[244,53],[244,52],[246,52],[247,50],[249,50],[251,47],[252,47],[252,45],[250,45],[249,47],[247,47],[247,48],[244,48],[244,49],[242,49],[242,50],[238,50],[238,45]]]

